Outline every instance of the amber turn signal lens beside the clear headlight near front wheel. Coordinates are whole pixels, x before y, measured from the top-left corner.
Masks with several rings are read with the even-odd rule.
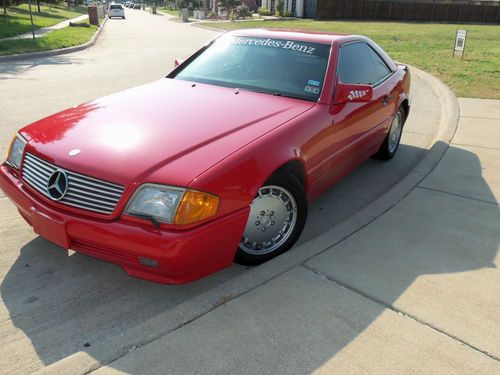
[[[201,191],[186,190],[182,196],[173,224],[186,225],[214,216],[219,198]]]

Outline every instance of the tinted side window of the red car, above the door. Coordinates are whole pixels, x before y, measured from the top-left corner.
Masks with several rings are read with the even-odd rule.
[[[363,85],[376,84],[392,73],[384,60],[362,42],[340,48],[337,71],[341,82]]]

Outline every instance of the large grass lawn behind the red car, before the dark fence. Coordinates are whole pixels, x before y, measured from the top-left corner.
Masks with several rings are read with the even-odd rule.
[[[204,22],[224,30],[240,28],[293,28],[362,34],[391,57],[432,73],[457,96],[500,99],[500,26],[403,22],[249,21]],[[457,29],[467,30],[464,59],[453,58]]]

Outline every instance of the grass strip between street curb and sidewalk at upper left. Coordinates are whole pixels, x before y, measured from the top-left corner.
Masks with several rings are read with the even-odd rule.
[[[90,26],[89,28],[65,27],[35,40],[15,39],[0,41],[0,56],[77,46],[88,42],[96,31],[96,26]]]

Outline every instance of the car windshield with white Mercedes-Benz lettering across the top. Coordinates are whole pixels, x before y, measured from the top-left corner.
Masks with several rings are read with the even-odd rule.
[[[176,79],[317,101],[330,45],[226,35]]]

